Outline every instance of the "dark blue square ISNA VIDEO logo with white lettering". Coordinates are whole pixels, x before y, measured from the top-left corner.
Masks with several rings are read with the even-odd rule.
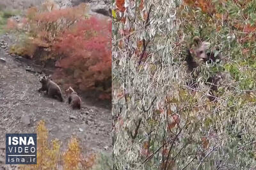
[[[6,164],[36,164],[36,134],[6,134]]]

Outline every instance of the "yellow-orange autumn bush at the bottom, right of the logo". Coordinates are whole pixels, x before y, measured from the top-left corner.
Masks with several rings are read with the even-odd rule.
[[[49,143],[48,130],[45,122],[40,121],[36,127],[37,150],[35,165],[21,165],[20,169],[92,169],[95,164],[95,155],[84,156],[81,153],[79,142],[70,138],[67,150],[61,153],[61,141],[54,139]]]

